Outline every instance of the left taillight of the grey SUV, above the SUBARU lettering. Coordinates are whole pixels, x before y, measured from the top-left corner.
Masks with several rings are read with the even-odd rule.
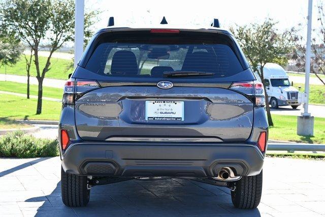
[[[73,79],[64,84],[63,87],[63,105],[74,105],[75,100],[91,89],[99,88],[100,85],[93,80]]]

